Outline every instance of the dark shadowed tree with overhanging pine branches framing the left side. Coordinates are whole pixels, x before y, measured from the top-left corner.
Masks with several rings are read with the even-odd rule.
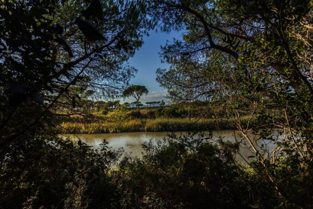
[[[150,22],[141,1],[0,1],[3,208],[21,208],[37,194],[32,207],[66,208],[66,190],[107,170],[114,154],[104,147],[100,157],[54,127],[96,117],[91,99],[121,95],[136,72],[125,63]]]

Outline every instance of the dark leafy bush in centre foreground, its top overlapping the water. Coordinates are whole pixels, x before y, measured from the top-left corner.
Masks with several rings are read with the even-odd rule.
[[[156,144],[156,145],[153,145]],[[227,149],[225,149],[227,147]],[[125,157],[113,173],[124,208],[243,208],[251,206],[244,167],[231,143],[194,134],[143,145],[142,159]],[[265,201],[265,200],[263,200]]]

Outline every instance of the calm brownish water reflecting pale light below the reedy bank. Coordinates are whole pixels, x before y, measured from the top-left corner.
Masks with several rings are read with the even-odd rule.
[[[184,132],[175,132],[177,135],[184,134]],[[208,133],[208,132],[206,132]],[[77,139],[73,134],[63,134],[62,136]],[[102,134],[78,134],[80,138],[83,138],[86,143],[94,148],[99,148],[102,143],[102,139],[109,142],[108,146],[112,149],[118,149],[123,147],[127,153],[131,153],[133,156],[141,157],[141,152],[143,151],[141,145],[143,142],[148,142],[150,139],[162,139],[167,136],[166,132],[131,132],[131,133],[102,133]],[[233,134],[230,131],[214,131],[213,138],[218,139],[222,137],[223,141],[235,142],[242,139],[239,133]],[[215,142],[213,142],[215,143]],[[268,150],[275,149],[276,145],[272,144],[270,140],[254,140],[254,144],[264,146]],[[248,145],[242,145],[240,147],[239,154],[236,155],[236,159],[240,162],[249,162],[248,156],[253,155],[252,149]]]

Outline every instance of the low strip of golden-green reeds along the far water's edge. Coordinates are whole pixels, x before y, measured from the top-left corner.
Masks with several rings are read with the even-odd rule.
[[[247,119],[243,118],[243,121]],[[120,123],[63,123],[62,133],[116,133],[116,132],[166,132],[207,131],[232,128],[228,122],[213,119],[156,118],[133,119]]]

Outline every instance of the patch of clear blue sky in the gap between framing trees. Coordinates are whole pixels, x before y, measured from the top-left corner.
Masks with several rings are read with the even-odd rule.
[[[156,69],[169,68],[169,64],[161,63],[159,52],[161,52],[161,45],[164,46],[166,41],[171,41],[173,38],[181,39],[181,33],[172,32],[170,34],[150,31],[149,36],[144,37],[144,43],[141,48],[136,51],[135,55],[128,61],[130,65],[134,66],[138,72],[135,78],[132,78],[130,84],[146,86],[149,93],[143,95],[140,99],[141,103],[151,101],[168,101],[165,98],[166,90],[156,82]],[[129,97],[123,100],[124,102],[134,102],[135,98]]]

